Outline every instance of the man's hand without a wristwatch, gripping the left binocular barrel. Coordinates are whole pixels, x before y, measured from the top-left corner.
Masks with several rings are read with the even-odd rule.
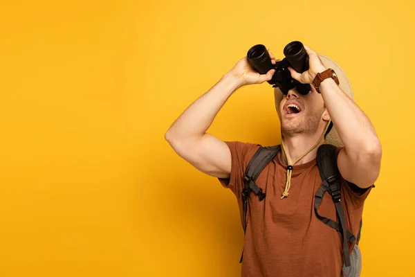
[[[275,60],[275,57],[273,53],[269,51],[269,48],[267,48],[267,50],[268,53],[270,53],[271,62],[275,64],[277,60]],[[275,70],[270,69],[266,74],[259,74],[248,62],[248,57],[245,56],[234,65],[228,72],[228,75],[237,78],[237,80],[239,80],[239,87],[242,87],[245,84],[261,84],[269,81],[273,78],[274,73]]]

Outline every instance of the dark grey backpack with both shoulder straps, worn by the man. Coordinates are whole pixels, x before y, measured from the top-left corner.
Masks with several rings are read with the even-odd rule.
[[[281,149],[281,145],[260,147],[255,152],[252,159],[248,163],[245,173],[243,174],[243,183],[245,188],[242,190],[242,201],[243,201],[243,232],[246,233],[246,212],[248,210],[248,198],[251,192],[259,197],[259,201],[264,200],[266,194],[255,184],[255,180],[259,176],[265,166],[275,157],[277,152]],[[362,220],[360,220],[360,229],[358,237],[355,238],[353,233],[346,229],[346,217],[344,215],[344,209],[341,203],[340,195],[340,178],[335,159],[335,145],[323,144],[317,149],[317,166],[320,171],[320,177],[322,178],[322,185],[317,190],[314,200],[314,211],[317,218],[324,224],[335,229],[342,235],[343,240],[343,274],[345,277],[358,277],[362,269],[362,256],[360,248],[358,246],[360,240],[360,230],[362,229]],[[318,213],[318,207],[322,202],[324,193],[329,193],[335,204],[335,210],[337,212],[340,222],[335,222],[326,217],[322,217]],[[346,234],[346,235],[344,235]],[[353,248],[351,255],[349,256],[349,242],[353,243],[356,240],[356,244]],[[243,251],[241,260],[243,260]]]

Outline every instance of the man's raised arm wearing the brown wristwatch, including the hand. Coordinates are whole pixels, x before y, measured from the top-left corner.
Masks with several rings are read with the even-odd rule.
[[[299,74],[290,69],[293,78],[311,83],[317,73],[326,70],[317,54],[306,48],[310,68]],[[382,146],[366,114],[335,84],[332,78],[320,84],[320,92],[330,118],[344,144],[338,154],[340,174],[360,188],[374,184],[380,172]]]

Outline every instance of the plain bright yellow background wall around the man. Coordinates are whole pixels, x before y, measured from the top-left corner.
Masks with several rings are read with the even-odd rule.
[[[362,276],[414,276],[414,1],[1,1],[0,276],[239,276],[243,230],[169,125],[254,44],[329,55],[383,146]],[[273,89],[209,132],[279,143]],[[316,249],[318,251],[318,249]]]

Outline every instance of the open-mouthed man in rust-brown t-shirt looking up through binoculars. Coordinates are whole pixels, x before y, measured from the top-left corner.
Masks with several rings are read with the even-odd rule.
[[[317,73],[333,69],[340,85],[331,77],[320,84],[316,82],[317,87],[312,84],[306,95],[291,89],[284,96],[275,89],[282,148],[255,182],[266,198],[261,202],[255,197],[249,200],[242,276],[343,276],[342,237],[318,220],[314,212],[315,193],[322,184],[316,163],[317,148],[327,143],[325,139],[331,137],[336,141],[336,136],[340,137],[341,142],[335,145],[339,145],[336,154],[342,205],[347,229],[355,236],[363,204],[380,172],[380,142],[369,118],[351,99],[346,75],[335,62],[304,47],[309,69],[299,74],[290,68],[292,77],[312,84]],[[272,53],[270,57],[275,64]],[[165,134],[178,155],[232,190],[241,217],[243,173],[261,145],[223,142],[206,131],[234,91],[246,84],[266,82],[273,73],[273,69],[263,75],[257,73],[243,57],[212,89],[194,101]],[[330,122],[335,128],[325,137]],[[333,200],[327,194],[319,213],[336,219]],[[355,242],[349,245],[350,252]]]

